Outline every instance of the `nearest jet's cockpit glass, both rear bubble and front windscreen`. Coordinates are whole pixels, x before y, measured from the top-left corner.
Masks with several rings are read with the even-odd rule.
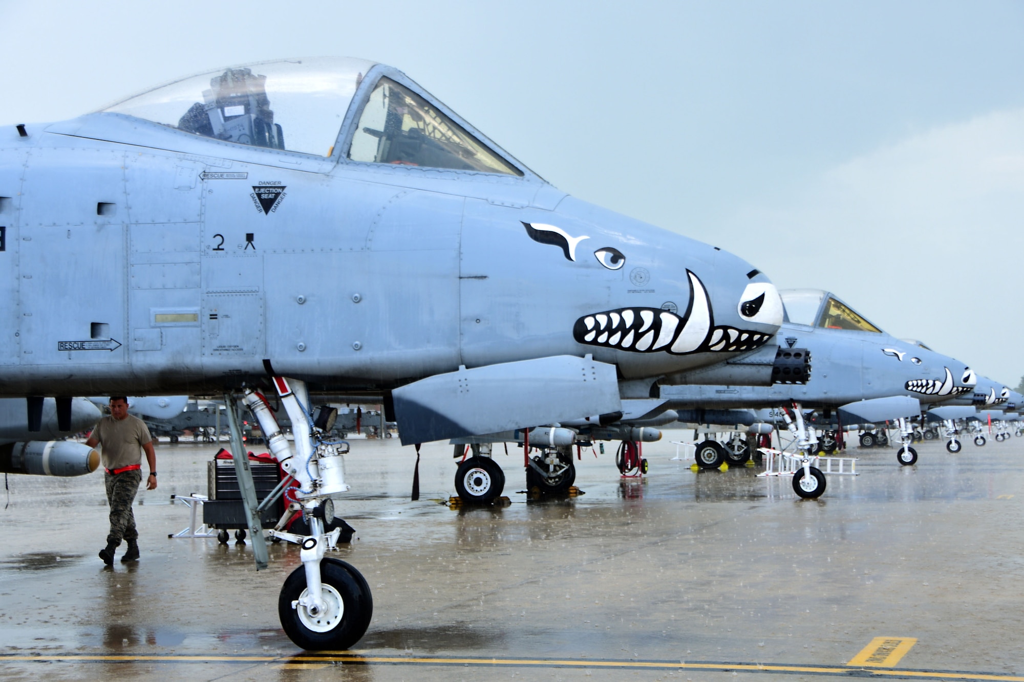
[[[102,113],[226,142],[330,157],[375,66],[350,57],[261,61],[174,81]],[[386,77],[374,84],[359,113],[347,156],[365,163],[523,174],[436,104]]]

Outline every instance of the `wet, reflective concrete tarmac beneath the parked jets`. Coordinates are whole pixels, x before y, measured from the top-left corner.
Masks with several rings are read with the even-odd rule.
[[[214,445],[161,444],[141,560],[113,569],[98,474],[10,476],[0,679],[1024,680],[1024,438],[922,443],[913,467],[852,450],[861,475],[801,501],[757,469],[692,472],[672,461],[681,435],[645,445],[643,481],[621,481],[610,449],[584,453],[587,494],[543,503],[517,494],[521,451],[499,446],[512,504],[458,510],[438,504],[450,445],[424,446],[413,503],[413,449],[353,440],[338,509],[358,539],[338,554],[374,620],[353,652],[317,655],[278,623],[297,548],[271,545],[256,572],[249,545],[167,537],[188,524],[169,496],[207,492]],[[882,668],[848,665],[878,637]]]

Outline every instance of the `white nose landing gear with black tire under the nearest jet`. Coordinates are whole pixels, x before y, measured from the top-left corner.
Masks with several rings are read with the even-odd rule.
[[[302,548],[299,552],[302,565],[285,581],[278,599],[281,626],[289,639],[304,649],[348,649],[366,633],[374,609],[370,586],[359,571],[344,561],[325,558],[328,551],[337,549],[342,532],[340,526],[331,531],[326,531],[325,527],[335,518],[331,496],[349,488],[345,484],[342,457],[348,452],[348,444],[330,439],[314,425],[309,417],[309,399],[303,382],[273,377],[273,384],[292,422],[294,452],[281,432],[266,398],[253,390],[246,390],[244,397],[246,406],[259,421],[270,452],[290,475],[264,503],[276,499],[285,492],[285,486],[291,484],[288,489],[294,491],[295,502],[289,504],[279,528],[301,513],[309,531],[306,536],[278,528],[268,531],[271,540],[284,540]],[[228,416],[237,440],[241,441],[233,412]],[[238,444],[232,443],[232,447],[236,446]]]

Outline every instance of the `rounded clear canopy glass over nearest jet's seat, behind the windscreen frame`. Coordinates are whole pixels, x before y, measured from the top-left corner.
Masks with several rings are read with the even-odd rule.
[[[190,76],[102,111],[228,142],[328,157],[373,66],[350,57],[261,61]]]

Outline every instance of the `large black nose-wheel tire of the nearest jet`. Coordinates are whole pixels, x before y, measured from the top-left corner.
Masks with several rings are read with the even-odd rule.
[[[303,607],[292,608],[306,589],[306,569],[299,566],[292,571],[281,588],[278,598],[278,616],[288,638],[303,649],[345,650],[354,645],[374,614],[374,600],[366,579],[348,563],[338,559],[321,560],[321,581],[330,598],[340,599],[340,607],[329,608],[321,617],[309,615]],[[313,629],[315,628],[315,629]]]

